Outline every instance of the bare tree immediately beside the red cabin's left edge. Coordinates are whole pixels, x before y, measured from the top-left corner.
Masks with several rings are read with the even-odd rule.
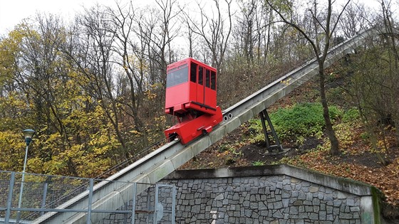
[[[171,43],[180,34],[178,15],[181,9],[177,7],[176,0],[157,0],[155,3],[156,8],[144,9],[135,18],[135,33],[141,42],[140,54],[147,58],[148,81],[156,97],[150,104],[152,108],[161,110],[165,96],[166,67],[176,58]],[[147,114],[151,117],[154,113]]]

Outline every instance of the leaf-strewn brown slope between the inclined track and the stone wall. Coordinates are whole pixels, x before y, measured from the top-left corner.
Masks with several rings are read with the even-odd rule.
[[[340,80],[336,80],[339,82]],[[269,113],[280,107],[292,107],[296,103],[317,100],[315,83],[309,82],[294,90],[268,109]],[[234,130],[227,137],[206,149],[180,169],[206,169],[231,166],[259,166],[266,164],[291,164],[333,176],[352,178],[369,183],[385,194],[387,206],[383,208],[385,218],[399,218],[399,146],[392,127],[387,127],[385,158],[390,162],[383,166],[371,146],[364,139],[361,122],[350,126],[336,124],[340,139],[341,156],[331,156],[326,137],[306,137],[302,144],[281,139],[284,154],[268,153],[264,142],[254,142],[255,130],[246,124]],[[389,129],[390,128],[390,129]]]

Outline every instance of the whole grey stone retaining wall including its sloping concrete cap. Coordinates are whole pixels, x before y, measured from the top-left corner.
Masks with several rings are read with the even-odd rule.
[[[175,171],[177,223],[379,223],[373,187],[293,166]]]

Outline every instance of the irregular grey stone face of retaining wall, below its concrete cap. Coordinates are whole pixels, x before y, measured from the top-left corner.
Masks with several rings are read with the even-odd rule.
[[[163,182],[177,223],[361,223],[360,196],[286,175]]]

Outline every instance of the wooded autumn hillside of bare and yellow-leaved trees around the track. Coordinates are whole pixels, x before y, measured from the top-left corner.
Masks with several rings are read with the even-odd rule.
[[[314,58],[299,30],[279,23],[266,2],[210,2],[219,14],[204,10],[202,4],[180,6],[180,1],[169,0],[145,8],[132,2],[115,3],[115,8],[97,5],[68,24],[58,16],[38,14],[1,36],[0,169],[22,171],[23,129],[36,130],[28,151],[31,173],[93,177],[142,156],[142,149],[165,141],[163,130],[175,122],[164,114],[165,71],[167,64],[182,58],[197,58],[217,68],[222,109]],[[332,9],[343,9],[331,3]],[[237,4],[237,12],[230,11],[232,4]],[[326,37],[321,32],[324,12],[331,8],[318,1],[312,4],[300,11],[291,7],[296,5],[291,1],[279,7],[321,41]],[[376,15],[368,15],[375,9],[367,11],[352,2],[346,9],[341,21],[334,21],[336,33],[327,32],[332,35],[329,41],[314,47],[327,50],[371,26],[383,27],[384,32],[323,70],[339,155],[328,153],[326,127],[318,116],[318,103],[324,101],[320,85],[307,83],[308,88],[268,109],[284,146],[291,148],[286,158],[271,160],[370,183],[396,206],[399,53],[398,35],[391,26],[395,22],[389,7]],[[197,17],[192,16],[195,13]],[[257,123],[244,124],[243,133],[182,168],[271,162]],[[247,156],[248,151],[253,154]]]

